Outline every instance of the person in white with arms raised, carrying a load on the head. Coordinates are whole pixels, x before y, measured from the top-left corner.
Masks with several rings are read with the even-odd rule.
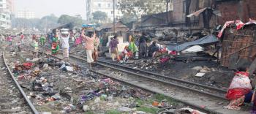
[[[69,59],[69,30],[67,28],[61,29],[61,47],[63,50],[64,60]]]

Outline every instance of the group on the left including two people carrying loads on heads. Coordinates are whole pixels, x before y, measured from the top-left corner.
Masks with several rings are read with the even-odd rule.
[[[72,42],[69,42],[70,40],[72,40]],[[86,28],[83,28],[82,31],[80,31],[80,34],[76,34],[75,36],[69,31],[69,29],[62,28],[59,34],[55,33],[50,38],[52,54],[56,55],[59,53],[59,48],[61,47],[65,61],[69,59],[69,43],[75,43],[74,46],[79,46],[82,45],[83,42],[85,43],[87,62],[91,67],[97,62],[99,47],[99,38],[94,30],[87,30]]]

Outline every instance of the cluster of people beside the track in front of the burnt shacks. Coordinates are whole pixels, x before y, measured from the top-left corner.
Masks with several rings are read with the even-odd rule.
[[[110,39],[109,47],[112,60],[121,61],[121,58],[123,58],[124,62],[129,58],[152,58],[154,57],[154,53],[160,48],[157,42],[151,42],[145,32],[138,39],[131,33],[129,35],[129,45],[124,47],[121,56],[118,55],[117,36]]]

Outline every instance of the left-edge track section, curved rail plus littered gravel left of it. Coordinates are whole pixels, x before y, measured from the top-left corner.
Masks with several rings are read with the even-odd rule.
[[[31,103],[30,99],[27,97],[26,93],[23,91],[23,88],[21,88],[20,84],[15,79],[14,75],[12,75],[12,71],[7,64],[5,50],[6,50],[6,47],[4,47],[4,49],[2,50],[1,57],[3,59],[2,64],[6,68],[6,71],[5,71],[6,73],[3,73],[3,74],[6,74],[6,75],[3,75],[3,74],[1,75],[1,84],[0,84],[1,87],[0,88],[4,89],[4,91],[1,91],[0,99],[3,100],[4,97],[7,97],[7,96],[8,96],[8,98],[4,101],[1,101],[2,103],[3,102],[5,102],[5,103],[1,104],[0,113],[34,113],[34,114],[38,114],[37,109]],[[1,71],[1,73],[2,73],[2,71]],[[10,88],[18,89],[17,91],[19,91],[19,92],[15,93],[15,90],[13,90],[13,91],[10,91],[10,94],[7,94],[7,96],[2,96],[5,94],[5,92],[8,92],[8,88],[4,88],[7,86],[10,86]],[[19,99],[19,101],[16,101],[15,99]],[[15,107],[16,105],[19,105],[19,106]]]

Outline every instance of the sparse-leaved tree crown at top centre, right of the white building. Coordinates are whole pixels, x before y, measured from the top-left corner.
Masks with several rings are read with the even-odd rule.
[[[130,15],[138,19],[141,15],[165,12],[165,4],[165,0],[120,0],[118,2],[118,9],[124,15]]]

